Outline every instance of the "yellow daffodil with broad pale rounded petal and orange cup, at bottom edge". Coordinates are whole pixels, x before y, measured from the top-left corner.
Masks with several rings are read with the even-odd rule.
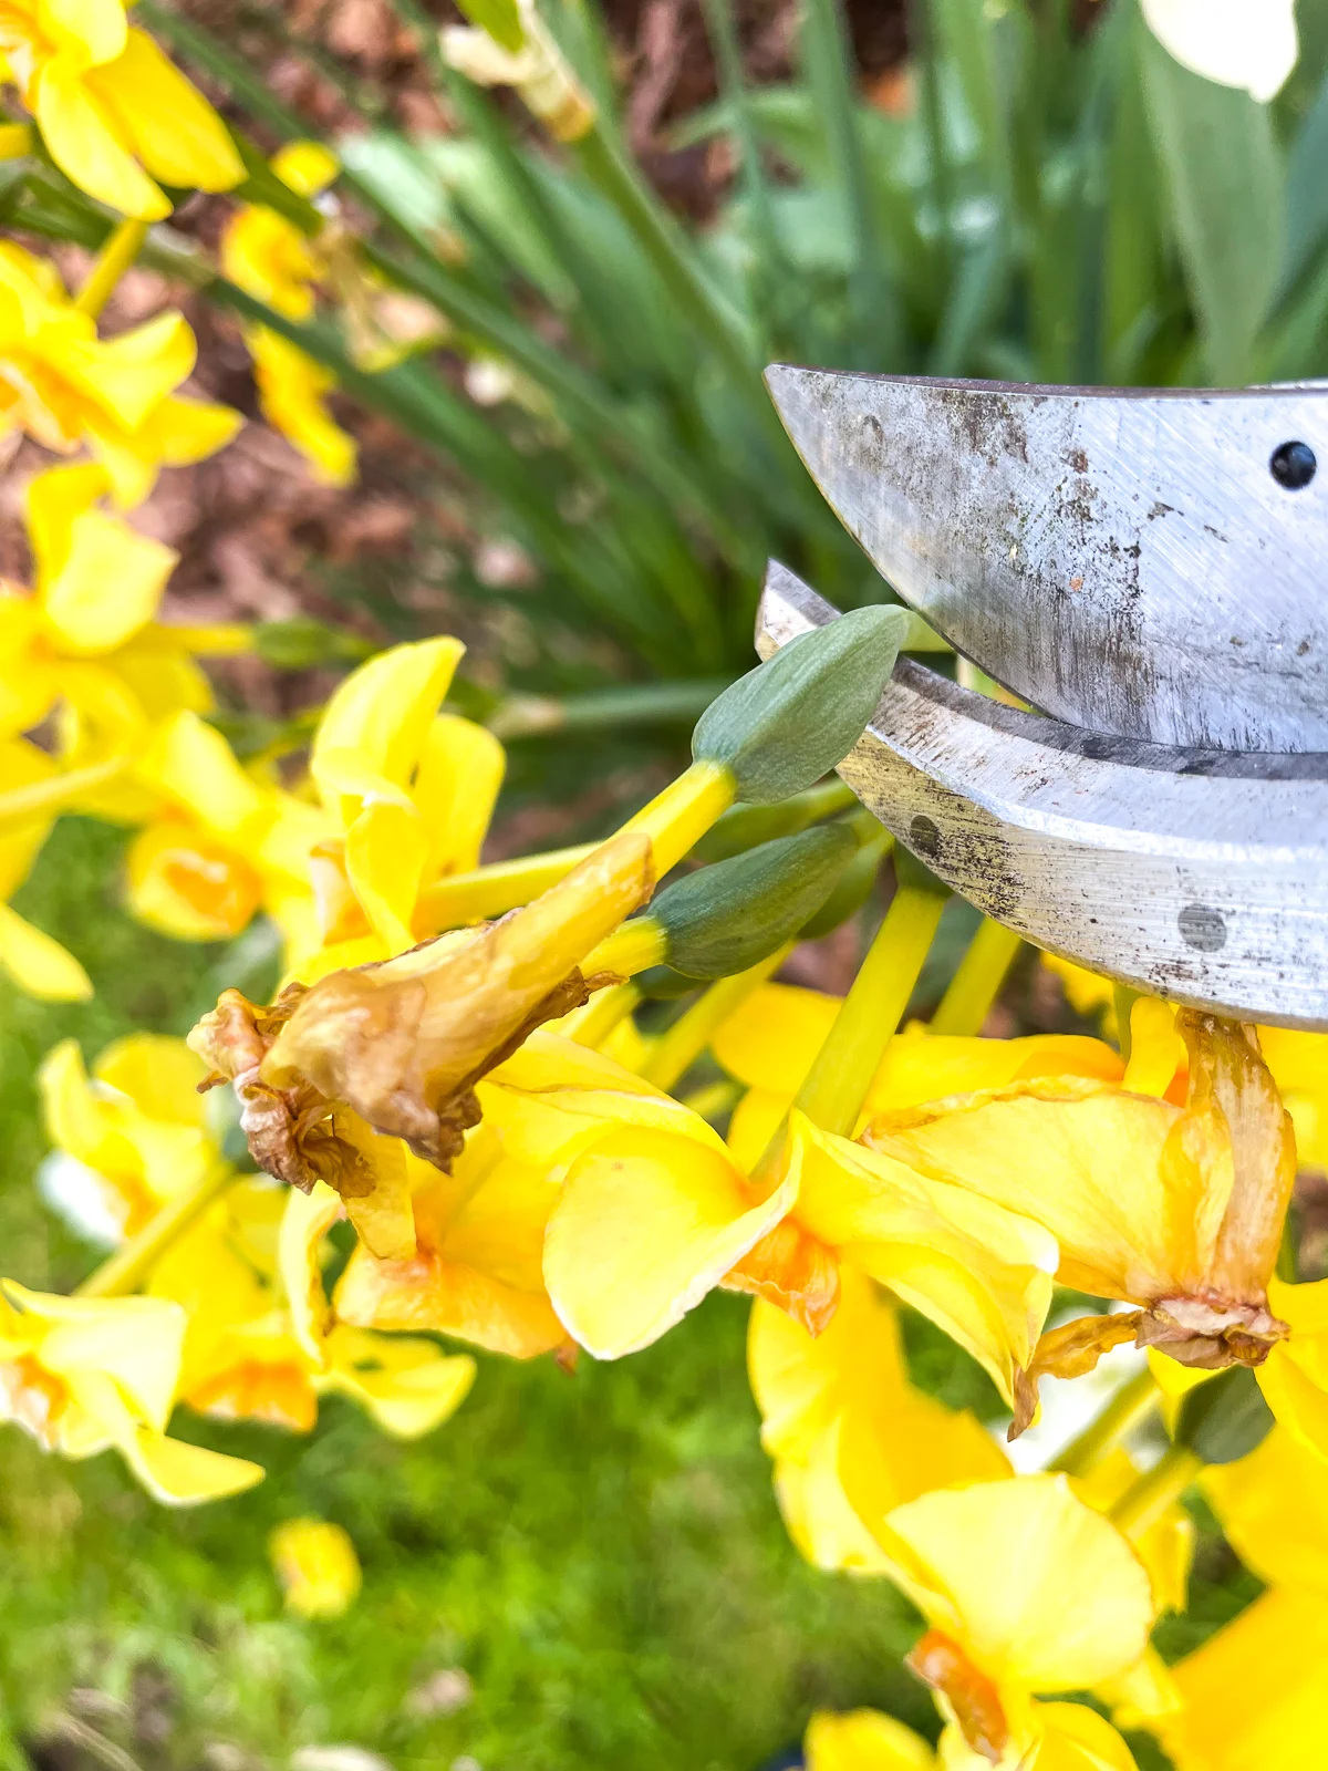
[[[1137,1665],[1149,1578],[1062,1475],[937,1489],[869,1521],[928,1631],[908,1667],[947,1721],[947,1771],[1133,1771],[1096,1711],[1043,1702]]]

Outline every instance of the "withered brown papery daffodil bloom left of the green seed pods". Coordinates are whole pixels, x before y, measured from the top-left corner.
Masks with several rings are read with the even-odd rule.
[[[448,1169],[480,1119],[475,1084],[545,1020],[616,979],[579,962],[650,898],[650,839],[614,838],[524,910],[393,960],[290,985],[271,1008],[227,990],[189,1034],[241,1100],[250,1151],[308,1192],[377,1185],[365,1126]]]

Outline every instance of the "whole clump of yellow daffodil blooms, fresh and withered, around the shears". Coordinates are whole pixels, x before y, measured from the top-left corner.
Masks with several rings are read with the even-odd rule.
[[[563,142],[595,128],[533,0],[464,11],[453,67],[513,85]],[[1247,78],[1232,53],[1241,7],[1218,11],[1201,41],[1195,7],[1146,5],[1181,60],[1273,90],[1277,67]],[[0,58],[37,133],[5,151],[39,140],[120,218],[76,290],[0,246],[0,429],[58,457],[25,491],[30,583],[0,586],[0,967],[51,1001],[94,992],[7,901],[80,811],[129,827],[131,914],[181,940],[266,919],[283,974],[271,1002],[225,988],[188,1038],[46,1054],[39,1185],[106,1257],[73,1296],[0,1280],[0,1419],[198,1504],[264,1472],[172,1431],[177,1410],[306,1435],[342,1396],[418,1438],[464,1404],[476,1353],[627,1357],[722,1288],[751,1298],[793,1543],[912,1599],[907,1665],[938,1713],[935,1748],[876,1711],[818,1713],[809,1771],[1130,1771],[1137,1730],[1177,1771],[1317,1762],[1328,1280],[1300,1280],[1287,1217],[1328,1151],[1328,1041],[1156,999],[1103,1020],[1114,1038],[983,1038],[990,955],[1013,955],[990,924],[935,1029],[908,1022],[946,893],[905,854],[843,1001],[779,981],[889,850],[825,777],[894,666],[891,611],[735,684],[691,767],[579,850],[483,864],[505,756],[448,705],[446,636],[352,671],[303,760],[235,756],[200,661],[251,636],[163,618],[174,554],[133,512],[239,418],[181,391],[179,313],[120,333],[101,313],[174,193],[235,191],[221,269],[266,313],[246,326],[262,409],[345,482],[333,379],[282,326],[340,303],[356,361],[386,367],[381,289],[328,198],[335,158],[294,143],[251,181],[120,0],[11,0]],[[1084,1013],[1114,1008],[1055,963]],[[662,1032],[637,1015],[652,995],[680,1002]],[[992,1380],[997,1433],[917,1381],[908,1312]],[[1043,1383],[1100,1381],[1126,1344],[1133,1376],[1034,1458]],[[1264,1592],[1165,1665],[1192,1489]],[[297,1615],[354,1603],[336,1523],[287,1520],[271,1558]]]

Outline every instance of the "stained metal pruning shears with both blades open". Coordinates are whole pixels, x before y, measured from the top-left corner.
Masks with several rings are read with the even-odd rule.
[[[1039,947],[1328,1029],[1328,388],[767,383],[873,565],[1025,703],[901,657],[859,799]],[[836,615],[772,563],[758,650]]]

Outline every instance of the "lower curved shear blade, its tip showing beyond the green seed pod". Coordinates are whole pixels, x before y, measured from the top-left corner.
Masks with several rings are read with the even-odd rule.
[[[772,563],[756,648],[836,615]],[[1036,946],[1172,1002],[1328,1027],[1328,756],[1101,737],[901,659],[839,774]]]

